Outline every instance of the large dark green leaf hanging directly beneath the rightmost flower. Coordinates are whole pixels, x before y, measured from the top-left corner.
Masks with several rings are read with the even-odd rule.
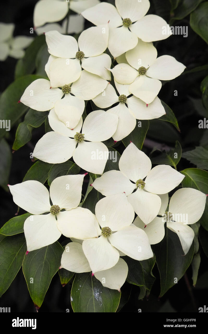
[[[194,254],[194,243],[192,243],[189,252],[183,256],[184,252],[178,235],[167,228],[167,234],[163,240],[152,247],[160,272],[160,297],[162,297],[176,284],[176,279],[177,282],[181,279],[190,266]]]

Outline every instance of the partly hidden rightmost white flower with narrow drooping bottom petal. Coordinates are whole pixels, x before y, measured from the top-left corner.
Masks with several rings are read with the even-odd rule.
[[[167,221],[167,227],[177,233],[186,255],[194,239],[194,231],[188,224],[194,224],[201,218],[205,209],[206,195],[193,188],[179,189],[170,199],[168,212],[166,211],[168,194],[162,195],[161,199],[162,205],[158,214],[163,217],[156,217],[144,231],[151,244],[158,243],[165,235],[164,223]],[[134,225],[142,229],[145,226],[139,217],[135,219]]]

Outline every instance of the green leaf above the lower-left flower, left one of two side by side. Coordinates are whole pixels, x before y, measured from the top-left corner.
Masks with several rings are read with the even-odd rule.
[[[27,171],[27,174],[25,175],[22,182],[27,180],[36,180],[44,184],[48,178],[48,173],[51,170],[52,166],[53,164],[48,164],[47,162],[43,161],[35,162],[32,167],[30,167],[30,169]]]

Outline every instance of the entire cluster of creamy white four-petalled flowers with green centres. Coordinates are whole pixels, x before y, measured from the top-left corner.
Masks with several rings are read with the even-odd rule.
[[[81,8],[84,2],[87,6]],[[53,131],[37,142],[33,156],[52,164],[72,157],[86,172],[101,175],[92,186],[105,197],[96,203],[95,214],[79,206],[87,173],[55,178],[50,193],[32,180],[9,188],[14,202],[31,213],[24,223],[29,252],[63,234],[71,242],[65,246],[60,268],[75,273],[91,271],[103,286],[120,290],[128,274],[127,263],[120,256],[138,261],[152,258],[151,244],[163,239],[165,223],[178,234],[187,254],[194,238],[188,224],[202,216],[206,195],[182,188],[171,197],[168,207],[168,193],[179,186],[184,175],[169,165],[152,168],[149,157],[134,143],[124,150],[119,171],[103,173],[109,154],[103,141],[124,139],[137,119],[165,115],[157,97],[160,80],[174,79],[185,66],[169,55],[157,57],[152,42],[171,33],[162,34],[162,27],[167,26],[162,18],[146,15],[148,0],[116,0],[116,7],[98,1],[81,3],[70,1],[71,9],[95,26],[82,31],[78,40],[57,30],[45,32],[49,80],[32,82],[20,102],[40,112],[50,111]],[[89,4],[92,7],[88,8]],[[64,1],[38,1],[35,26],[61,20],[67,6]],[[86,115],[89,100],[101,109]],[[92,159],[97,150],[103,159]]]

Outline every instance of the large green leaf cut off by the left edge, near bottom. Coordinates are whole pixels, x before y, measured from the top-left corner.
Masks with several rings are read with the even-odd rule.
[[[23,234],[8,236],[0,242],[0,297],[9,288],[26,253],[26,240]]]

